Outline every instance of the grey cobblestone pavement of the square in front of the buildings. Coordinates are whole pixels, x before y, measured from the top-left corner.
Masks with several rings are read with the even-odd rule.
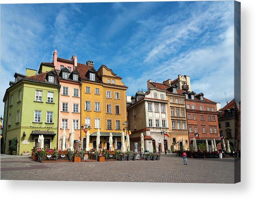
[[[234,161],[240,159],[190,159],[177,156],[160,161],[33,162],[31,157],[1,154],[1,180],[234,183]]]

